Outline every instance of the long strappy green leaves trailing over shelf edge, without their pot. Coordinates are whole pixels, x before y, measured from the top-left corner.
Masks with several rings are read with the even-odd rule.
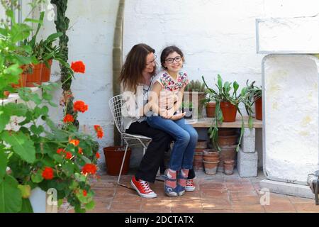
[[[238,151],[240,148],[242,135],[244,133],[244,118],[240,111],[239,104],[241,102],[244,104],[247,102],[247,98],[249,96],[249,94],[247,94],[247,88],[244,87],[241,90],[241,92],[238,94],[237,91],[239,89],[239,84],[236,81],[223,83],[223,79],[222,77],[220,77],[220,74],[218,74],[218,82],[216,84],[216,87],[217,87],[216,90],[208,87],[204,77],[202,77],[202,79],[203,79],[203,83],[206,85],[208,89],[208,96],[210,97],[211,100],[216,101],[215,118],[213,118],[214,123],[208,129],[208,133],[210,134],[210,138],[212,140],[213,146],[216,149],[220,150],[220,147],[218,146],[218,125],[223,123],[223,112],[220,109],[220,103],[222,101],[226,101],[236,106],[236,109],[242,118],[240,138],[236,148],[236,150]],[[249,121],[250,128],[252,128],[252,118],[250,117],[248,121]]]

